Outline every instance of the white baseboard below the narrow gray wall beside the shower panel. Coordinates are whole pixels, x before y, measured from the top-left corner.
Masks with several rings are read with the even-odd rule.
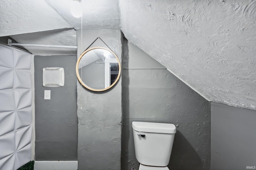
[[[77,170],[78,161],[35,161],[34,170]]]

